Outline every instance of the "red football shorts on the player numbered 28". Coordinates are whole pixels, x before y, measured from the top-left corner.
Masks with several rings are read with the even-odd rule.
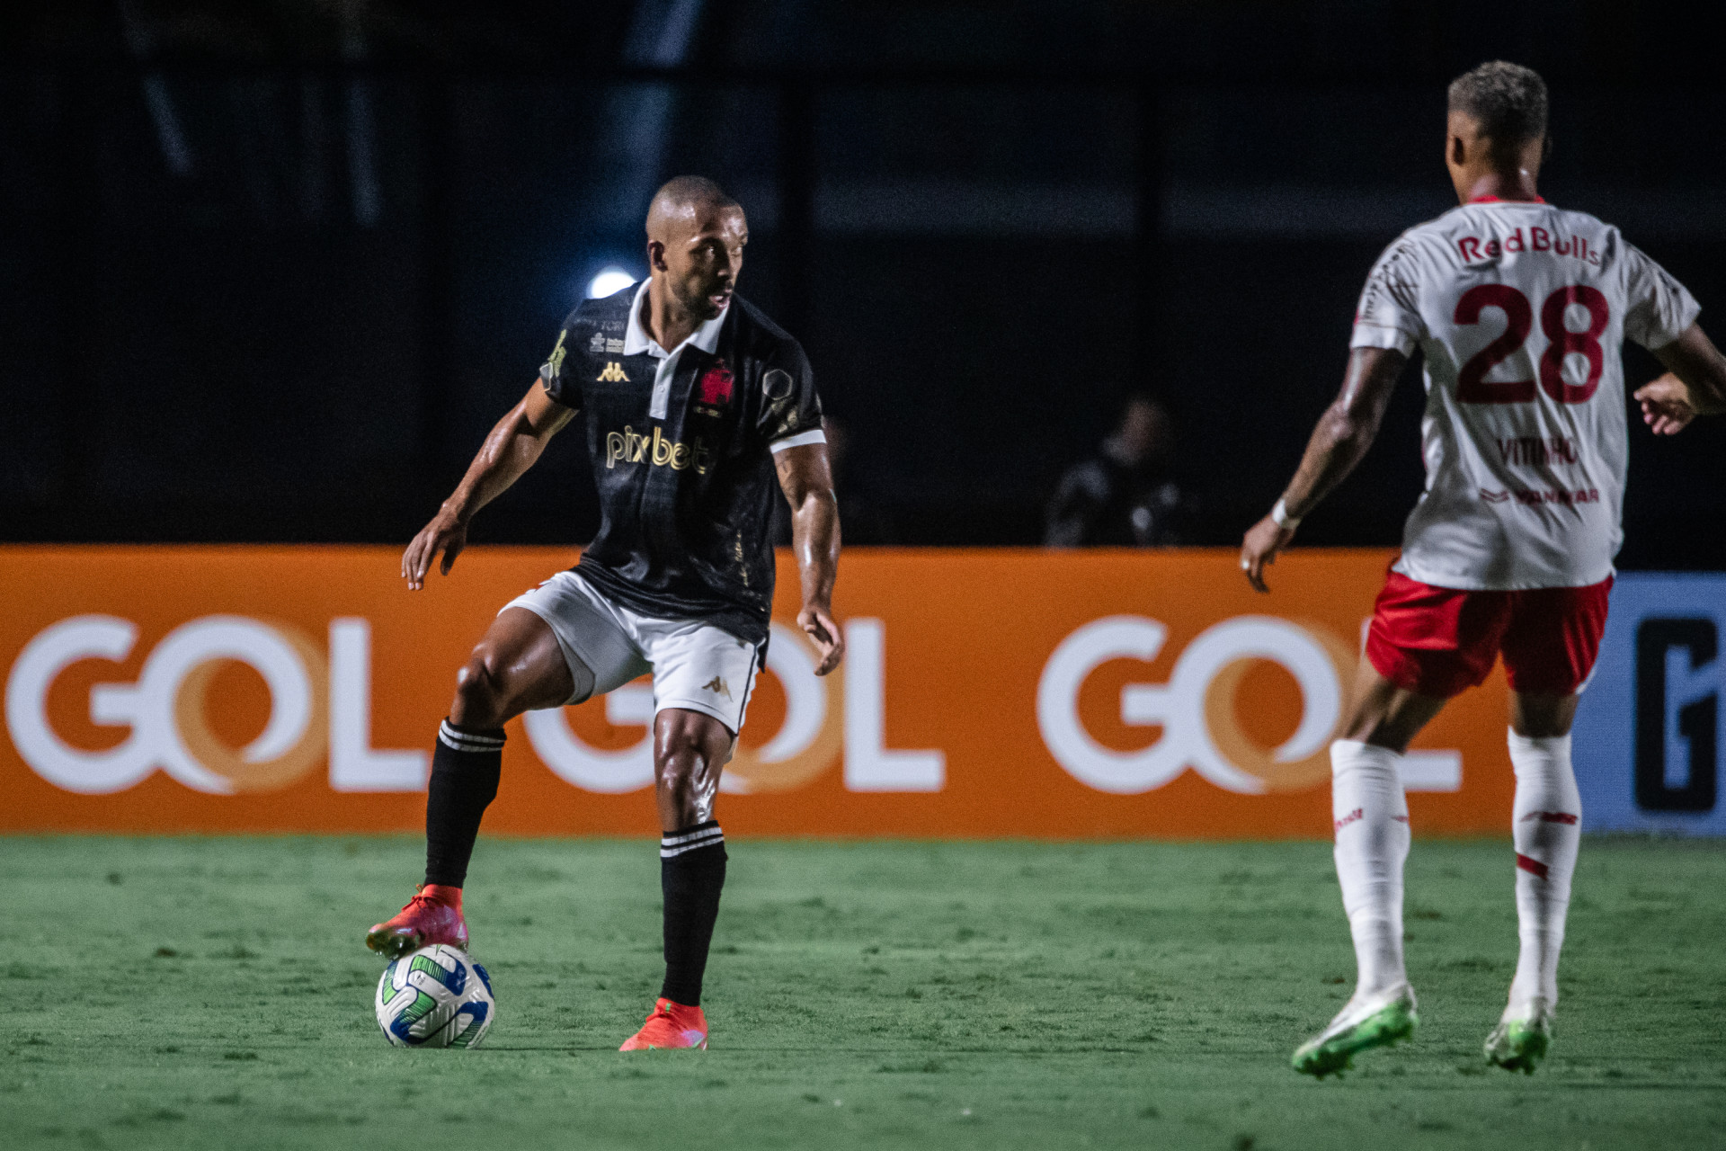
[[[1610,576],[1590,587],[1467,592],[1391,571],[1372,606],[1367,659],[1396,687],[1450,699],[1505,657],[1514,692],[1583,687],[1607,626]]]

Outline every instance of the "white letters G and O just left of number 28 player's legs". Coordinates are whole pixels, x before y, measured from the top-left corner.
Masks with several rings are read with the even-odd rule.
[[[1315,754],[1341,720],[1343,692],[1324,645],[1303,628],[1272,616],[1238,616],[1203,632],[1175,661],[1169,683],[1129,683],[1120,692],[1122,723],[1162,725],[1141,751],[1098,744],[1079,721],[1079,687],[1110,659],[1150,663],[1169,628],[1143,616],[1108,616],[1068,635],[1049,656],[1037,685],[1037,726],[1055,759],[1098,790],[1132,796],[1162,787],[1187,766],[1232,792],[1262,794],[1263,780],[1231,763],[1215,744],[1205,714],[1212,678],[1239,659],[1269,659],[1288,670],[1301,690],[1301,721],[1276,749],[1279,763]]]

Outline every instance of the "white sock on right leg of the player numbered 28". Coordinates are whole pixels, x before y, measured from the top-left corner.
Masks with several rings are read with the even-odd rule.
[[[1515,915],[1522,951],[1510,984],[1510,1009],[1529,999],[1559,1003],[1559,951],[1571,875],[1583,839],[1583,801],[1571,770],[1571,737],[1526,739],[1510,732],[1515,768]]]

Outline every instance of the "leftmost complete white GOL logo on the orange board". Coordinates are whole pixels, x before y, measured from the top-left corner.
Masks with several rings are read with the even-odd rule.
[[[69,745],[48,721],[48,692],[85,659],[131,656],[138,626],[117,616],[74,616],[38,633],[12,663],[5,718],[12,744],[45,780],[69,792],[104,794],[162,770],[200,792],[231,796],[287,787],[330,752],[338,792],[421,790],[428,759],[419,751],[373,751],[371,626],[330,623],[330,657],[302,632],[249,616],[204,616],[150,651],[135,683],[97,683],[90,720],[124,725],[107,751]],[[209,689],[224,663],[257,671],[269,689],[269,720],[245,747],[212,730]]]

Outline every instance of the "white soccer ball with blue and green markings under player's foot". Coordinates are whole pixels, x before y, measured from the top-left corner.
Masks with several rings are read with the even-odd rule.
[[[390,959],[375,1006],[397,1047],[478,1047],[497,1018],[485,968],[447,944]]]

